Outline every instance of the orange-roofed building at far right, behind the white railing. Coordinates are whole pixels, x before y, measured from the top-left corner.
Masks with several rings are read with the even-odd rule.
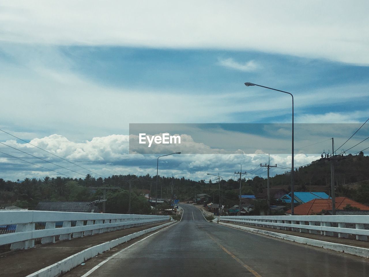
[[[369,206],[347,197],[336,197],[335,207],[337,214],[354,214],[355,210],[357,214],[363,214],[362,211],[369,211]],[[332,211],[332,199],[313,199],[294,208],[294,214],[300,216],[326,214],[328,211]],[[287,210],[286,214],[291,214],[291,210]]]

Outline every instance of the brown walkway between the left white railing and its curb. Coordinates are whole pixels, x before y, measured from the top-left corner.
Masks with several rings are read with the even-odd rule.
[[[0,277],[24,277],[89,247],[165,223],[167,221],[3,253],[0,254]]]

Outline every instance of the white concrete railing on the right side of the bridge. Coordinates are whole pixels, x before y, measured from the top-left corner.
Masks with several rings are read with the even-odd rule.
[[[339,216],[221,216],[221,222],[233,222],[254,226],[290,230],[300,233],[321,234],[348,238],[355,235],[357,240],[368,240],[368,215]]]

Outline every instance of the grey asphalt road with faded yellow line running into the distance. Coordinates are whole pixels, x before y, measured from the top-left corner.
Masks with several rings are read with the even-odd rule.
[[[118,252],[88,276],[369,276],[367,259],[209,223],[197,207],[181,207],[181,222]]]

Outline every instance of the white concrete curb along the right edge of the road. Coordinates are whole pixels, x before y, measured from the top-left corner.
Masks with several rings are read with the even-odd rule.
[[[250,232],[250,233],[264,234],[267,236],[276,237],[278,239],[294,241],[297,243],[302,243],[302,244],[316,246],[316,247],[320,247],[324,249],[334,250],[334,251],[341,252],[341,253],[352,254],[352,255],[359,256],[359,257],[369,258],[369,249],[367,248],[356,247],[356,246],[340,244],[340,243],[333,243],[329,241],[308,239],[306,237],[298,237],[298,236],[281,234],[281,233],[276,233],[276,232],[271,232],[271,231],[266,231],[266,230],[259,230],[259,229],[254,229],[254,228],[250,228],[246,226],[239,226],[239,225],[234,225],[234,224],[224,223],[224,222],[219,222],[219,224],[222,224],[228,227],[241,229],[241,230],[246,230],[247,232]]]

